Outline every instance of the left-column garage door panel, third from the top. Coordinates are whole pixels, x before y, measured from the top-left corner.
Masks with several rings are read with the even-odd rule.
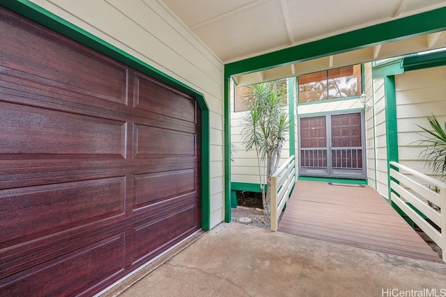
[[[123,214],[124,204],[125,177],[1,190],[0,248]]]

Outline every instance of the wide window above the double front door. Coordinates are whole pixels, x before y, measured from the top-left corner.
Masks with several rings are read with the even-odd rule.
[[[305,74],[298,80],[300,103],[359,96],[362,93],[361,65]]]

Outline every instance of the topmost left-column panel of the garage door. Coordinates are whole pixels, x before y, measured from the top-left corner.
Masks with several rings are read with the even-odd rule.
[[[40,26],[17,24],[10,15],[4,16],[2,24],[0,35],[8,42],[2,49],[5,67],[33,74],[45,83],[127,104],[128,72],[123,65]]]

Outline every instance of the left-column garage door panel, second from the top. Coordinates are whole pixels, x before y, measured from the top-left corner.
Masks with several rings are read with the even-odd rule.
[[[0,154],[125,157],[126,122],[0,102],[0,126]]]

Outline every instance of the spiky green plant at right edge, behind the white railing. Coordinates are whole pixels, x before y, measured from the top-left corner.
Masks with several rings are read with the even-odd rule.
[[[442,127],[435,115],[429,115],[426,119],[430,125],[429,129],[418,125],[429,134],[420,141],[420,143],[428,144],[420,156],[433,172],[444,178],[446,173],[446,122]]]

